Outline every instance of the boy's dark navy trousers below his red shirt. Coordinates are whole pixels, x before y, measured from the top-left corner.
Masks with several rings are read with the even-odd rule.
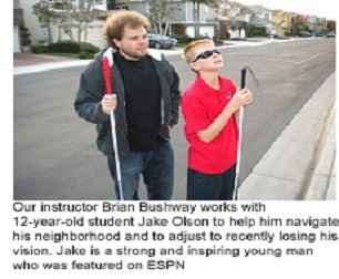
[[[208,175],[187,169],[188,200],[232,200],[236,165],[223,174]]]

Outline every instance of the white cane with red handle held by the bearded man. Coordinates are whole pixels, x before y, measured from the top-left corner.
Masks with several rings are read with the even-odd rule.
[[[103,74],[105,80],[105,87],[106,94],[112,95],[112,84],[111,84],[111,65],[107,58],[103,58]],[[119,183],[119,190],[120,190],[120,199],[124,200],[122,183],[121,183],[121,168],[120,168],[120,157],[119,157],[119,149],[117,149],[117,141],[116,141],[116,127],[115,127],[115,115],[114,110],[111,110],[111,125],[112,125],[112,138],[113,138],[113,151],[115,156],[115,166],[116,166],[116,178]]]

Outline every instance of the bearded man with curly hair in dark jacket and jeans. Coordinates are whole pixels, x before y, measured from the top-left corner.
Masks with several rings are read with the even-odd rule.
[[[107,164],[119,199],[138,199],[143,175],[147,198],[168,200],[174,184],[174,154],[170,130],[178,120],[179,79],[160,52],[148,53],[150,21],[135,11],[119,11],[107,18],[103,50],[81,75],[75,99],[80,117],[96,124],[97,148]],[[102,59],[112,63],[113,95],[105,94]],[[121,165],[120,193],[110,112],[114,110]],[[122,196],[121,196],[122,195]]]

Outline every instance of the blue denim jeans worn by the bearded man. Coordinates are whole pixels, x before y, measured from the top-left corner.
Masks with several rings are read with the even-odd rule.
[[[115,158],[107,157],[117,199],[121,199]],[[170,141],[152,152],[131,152],[127,159],[120,159],[124,200],[138,200],[140,175],[143,175],[150,200],[170,200],[174,184],[174,153]]]

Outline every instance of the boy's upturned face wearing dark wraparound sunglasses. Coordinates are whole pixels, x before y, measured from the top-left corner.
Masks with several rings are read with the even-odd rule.
[[[195,53],[196,56],[191,66],[197,72],[215,72],[224,66],[223,56],[214,44],[199,45]]]

